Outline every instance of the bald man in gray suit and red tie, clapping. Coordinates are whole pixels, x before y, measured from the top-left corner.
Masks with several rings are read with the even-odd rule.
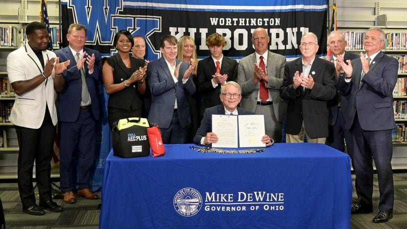
[[[265,133],[275,142],[280,142],[286,109],[285,101],[279,97],[285,57],[268,51],[269,41],[264,28],[254,29],[251,36],[254,53],[240,60],[237,82],[243,96],[240,106],[256,114],[264,114]]]

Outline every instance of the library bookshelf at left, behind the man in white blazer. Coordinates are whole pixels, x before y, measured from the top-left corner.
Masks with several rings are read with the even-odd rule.
[[[59,1],[47,0],[48,4],[48,19],[50,27],[54,27],[54,31],[50,35],[54,37],[53,49],[59,48],[59,37],[57,29],[59,27]],[[11,109],[15,100],[12,92],[7,89],[8,94],[4,94],[4,80],[7,80],[7,55],[24,44],[24,28],[31,21],[39,20],[40,1],[39,0],[2,0],[0,7],[0,27],[11,29],[10,34],[13,38],[11,45],[0,43],[0,178],[16,178],[17,177],[17,152],[18,144],[16,141],[16,133],[11,122],[5,119],[2,110]],[[0,29],[0,39],[3,40],[3,29]],[[9,37],[11,39],[11,37]],[[4,38],[5,39],[5,38]],[[4,40],[3,40],[4,41]],[[5,83],[5,88],[9,84]],[[10,93],[11,92],[11,93]],[[7,106],[6,106],[7,105]],[[7,111],[8,115],[8,111]],[[4,117],[4,119],[3,119]],[[35,170],[35,169],[34,169]],[[58,177],[59,172],[51,177]]]

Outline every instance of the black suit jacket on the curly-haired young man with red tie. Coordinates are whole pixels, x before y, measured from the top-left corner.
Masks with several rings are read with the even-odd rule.
[[[197,88],[203,97],[200,114],[211,106],[222,104],[219,98],[220,84],[213,88],[212,75],[216,72],[216,65],[212,56],[199,60],[197,67]],[[237,61],[223,55],[220,74],[227,74],[227,81],[237,81]]]

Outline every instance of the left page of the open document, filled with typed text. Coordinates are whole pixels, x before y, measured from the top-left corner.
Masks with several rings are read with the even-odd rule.
[[[237,148],[237,115],[212,114],[212,132],[217,135],[214,148]]]

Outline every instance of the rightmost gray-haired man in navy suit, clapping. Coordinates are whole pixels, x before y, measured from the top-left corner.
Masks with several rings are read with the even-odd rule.
[[[364,37],[365,54],[360,52],[360,57],[348,64],[341,56],[338,57],[341,66],[338,89],[343,96],[349,96],[343,109],[345,127],[354,139],[352,160],[360,196],[351,213],[372,212],[373,157],[380,193],[379,212],[373,222],[386,222],[392,218],[394,204],[392,92],[397,82],[398,62],[381,52],[384,43],[384,31],[372,27]]]

